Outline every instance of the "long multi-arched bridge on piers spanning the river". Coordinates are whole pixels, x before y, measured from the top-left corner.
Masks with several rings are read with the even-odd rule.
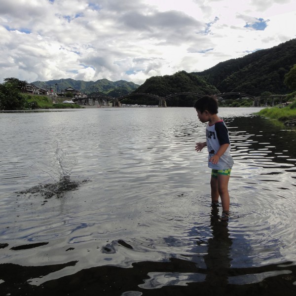
[[[260,106],[260,104],[259,104],[260,100],[264,100],[264,99],[267,100],[268,98],[273,98],[273,103],[274,103],[274,98],[280,98],[280,101],[281,101],[282,97],[284,97],[284,95],[271,95],[271,96],[266,96],[266,97],[255,97],[255,96],[252,96],[252,95],[249,95],[246,93],[241,93],[241,92],[220,93],[220,94],[216,94],[215,96],[219,100],[223,97],[231,96],[231,95],[239,96],[240,98],[252,99],[254,101],[253,106]],[[119,97],[110,97],[110,96],[104,96],[101,94],[95,94],[95,95],[88,96],[86,98],[74,98],[73,101],[74,102],[85,101],[85,104],[88,104],[89,100],[92,100],[94,103],[95,103],[95,101],[98,101],[100,104],[100,102],[102,102],[102,100],[105,100],[107,102],[107,105],[109,105],[109,102],[112,102],[112,105],[114,107],[120,107],[121,100],[126,99],[126,98],[130,98],[130,97],[136,97],[136,96],[137,97],[145,96],[145,97],[156,99],[156,100],[158,100],[158,107],[167,107],[166,101],[171,98],[179,97],[179,96],[195,96],[197,98],[201,98],[204,96],[204,94],[198,94],[198,93],[194,93],[194,92],[181,92],[181,93],[170,94],[165,97],[161,97],[161,96],[149,94],[149,93],[132,93],[132,94],[119,96]]]

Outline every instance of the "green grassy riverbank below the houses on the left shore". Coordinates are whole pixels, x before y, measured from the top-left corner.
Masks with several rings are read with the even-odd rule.
[[[32,96],[27,94],[23,94],[22,96],[25,100],[25,109],[27,110],[83,108],[77,104],[62,103],[65,100],[65,98],[54,98],[55,101],[53,101],[51,98],[47,96]]]

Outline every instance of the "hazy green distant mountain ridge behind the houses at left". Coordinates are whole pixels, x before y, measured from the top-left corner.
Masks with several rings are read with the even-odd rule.
[[[117,94],[128,94],[139,87],[139,85],[135,84],[134,82],[128,82],[125,80],[118,80],[113,82],[108,79],[99,79],[97,81],[83,81],[67,78],[48,81],[34,81],[32,83],[40,88],[52,88],[54,91],[57,90],[58,93],[68,87],[72,87],[85,94],[100,92],[110,96],[117,96]]]

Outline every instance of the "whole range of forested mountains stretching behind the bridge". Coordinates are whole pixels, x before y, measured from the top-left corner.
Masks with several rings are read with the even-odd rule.
[[[202,71],[172,75],[153,76],[141,86],[125,80],[82,81],[68,79],[35,81],[40,88],[52,88],[60,92],[73,87],[81,93],[99,92],[117,97],[131,92],[152,93],[165,96],[179,92],[217,94],[219,92],[242,92],[259,96],[263,92],[287,94],[291,92],[284,84],[284,76],[296,64],[296,39],[269,49],[258,50],[242,58],[231,59]]]

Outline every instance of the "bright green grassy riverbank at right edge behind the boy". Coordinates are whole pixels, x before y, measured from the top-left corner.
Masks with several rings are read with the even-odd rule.
[[[258,114],[283,122],[290,120],[296,121],[296,101],[293,102],[291,105],[283,108],[273,107],[262,109],[258,112]]]

